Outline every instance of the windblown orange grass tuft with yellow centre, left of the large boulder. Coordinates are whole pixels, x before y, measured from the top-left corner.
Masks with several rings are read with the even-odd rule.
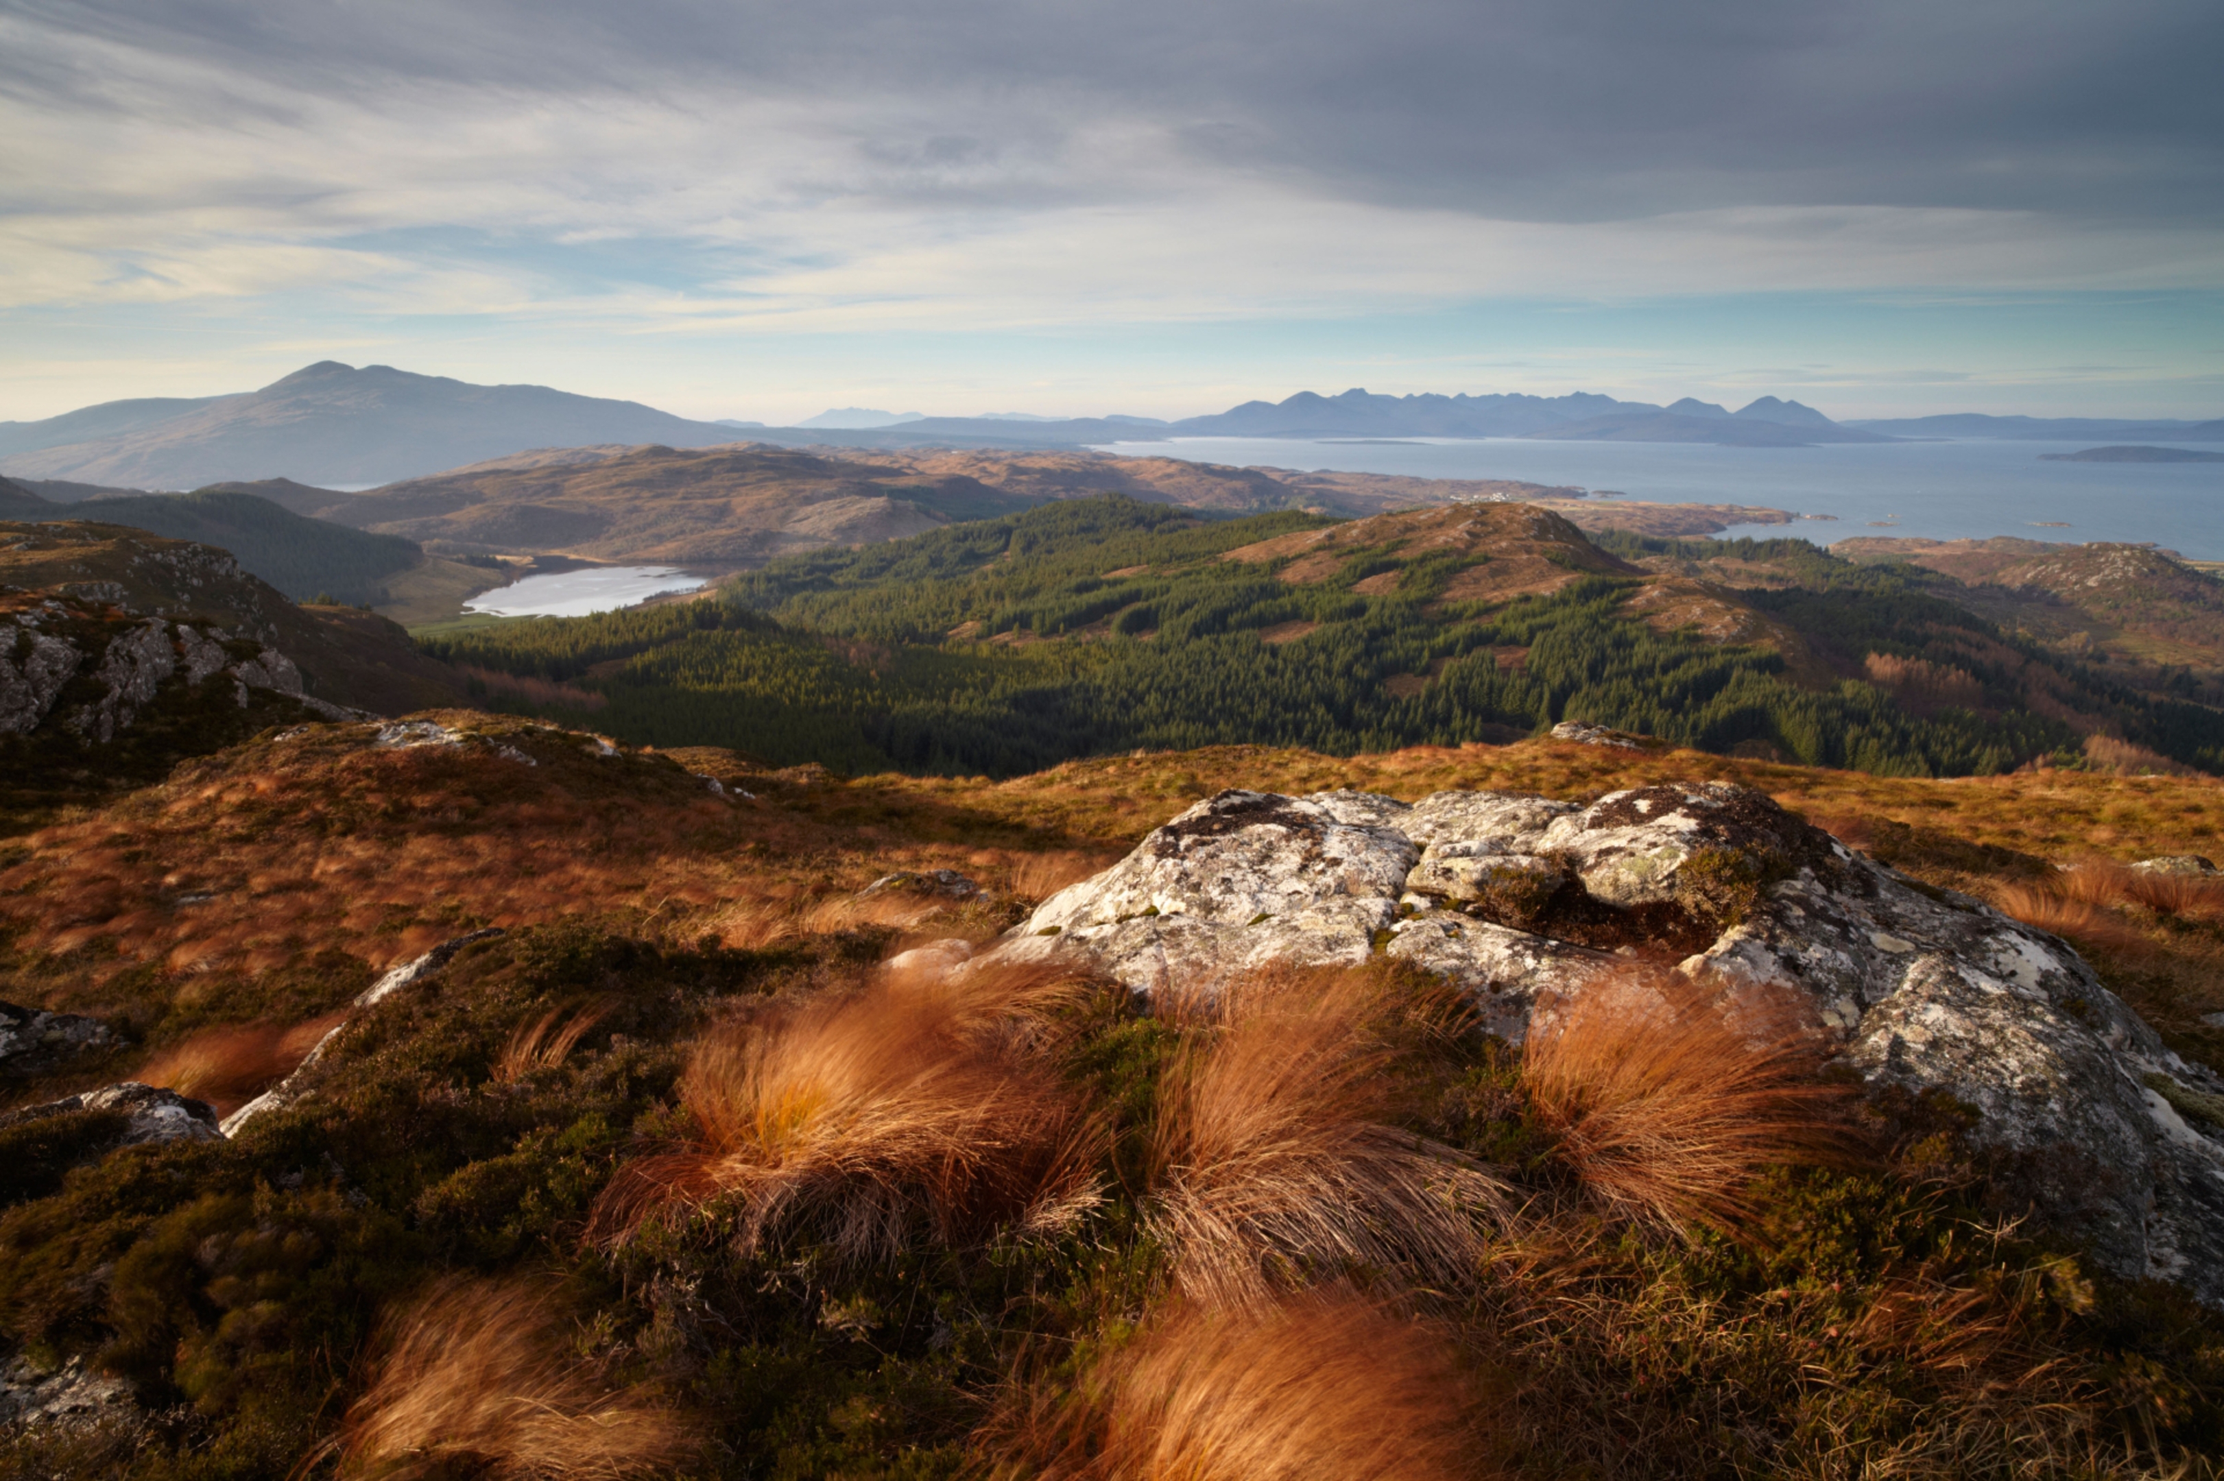
[[[881,974],[703,1038],[681,1079],[701,1143],[620,1170],[589,1236],[727,1199],[743,1250],[776,1230],[867,1259],[919,1225],[945,1243],[1063,1227],[1096,1201],[1103,1141],[1043,1052],[1072,994],[1041,972]]]

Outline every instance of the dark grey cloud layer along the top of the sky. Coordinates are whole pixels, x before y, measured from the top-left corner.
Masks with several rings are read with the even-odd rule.
[[[1492,218],[1813,205],[2224,218],[2215,0],[7,9],[307,91],[478,85],[520,107],[723,91],[865,109],[852,160],[870,178],[852,187],[885,198],[1054,200],[1076,189],[1059,165],[1072,133],[1125,122],[1199,169]],[[236,107],[285,125],[269,93],[133,96],[67,49],[0,49],[0,89],[58,113]],[[1114,176],[1085,189],[1116,189]]]

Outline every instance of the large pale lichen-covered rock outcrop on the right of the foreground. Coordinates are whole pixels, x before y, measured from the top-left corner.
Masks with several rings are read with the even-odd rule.
[[[1590,807],[1223,792],[1043,901],[992,958],[1136,992],[1270,961],[1401,958],[1519,1043],[1541,998],[1632,956],[1732,1012],[1795,1012],[1875,1090],[1946,1096],[2039,1210],[2128,1276],[2224,1305],[2224,1081],[2162,1045],[2062,941],[1712,785]]]

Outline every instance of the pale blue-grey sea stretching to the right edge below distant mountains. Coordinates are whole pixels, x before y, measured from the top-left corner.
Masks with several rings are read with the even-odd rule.
[[[1719,538],[1850,536],[1964,540],[2151,540],[2193,560],[2224,560],[2224,463],[2042,463],[2095,443],[1833,443],[1708,447],[1692,443],[1530,443],[1414,438],[1399,443],[1170,438],[1099,451],[1237,467],[1519,478],[1619,489],[1668,505],[1766,505],[1837,523],[1739,525]],[[2220,451],[2213,443],[2182,443]]]

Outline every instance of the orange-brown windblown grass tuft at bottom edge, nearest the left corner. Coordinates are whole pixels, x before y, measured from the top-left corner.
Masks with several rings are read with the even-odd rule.
[[[378,1348],[371,1388],[325,1450],[347,1479],[627,1481],[694,1450],[672,1408],[574,1350],[536,1283],[440,1281]]]

